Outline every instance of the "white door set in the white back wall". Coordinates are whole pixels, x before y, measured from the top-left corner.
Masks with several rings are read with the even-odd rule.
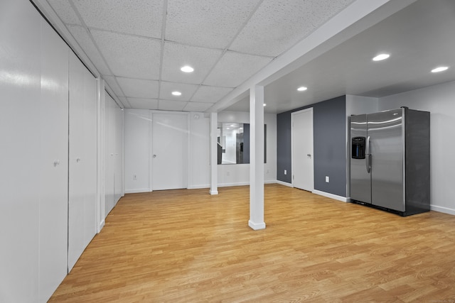
[[[186,188],[188,184],[188,115],[152,115],[152,190]]]

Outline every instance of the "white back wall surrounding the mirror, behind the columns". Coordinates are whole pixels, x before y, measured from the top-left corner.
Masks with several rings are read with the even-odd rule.
[[[238,111],[221,111],[218,123],[250,123],[250,113]],[[267,125],[267,163],[264,164],[264,182],[277,182],[277,115],[264,114]],[[218,165],[218,186],[235,186],[250,184],[250,164]]]

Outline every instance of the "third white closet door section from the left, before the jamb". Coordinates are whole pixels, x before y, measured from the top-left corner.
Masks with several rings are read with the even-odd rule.
[[[97,81],[70,53],[68,270],[97,231]]]

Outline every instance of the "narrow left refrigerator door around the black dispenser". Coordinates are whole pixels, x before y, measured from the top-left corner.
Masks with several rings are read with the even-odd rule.
[[[367,115],[350,117],[350,138],[367,137]],[[365,149],[366,150],[366,149]],[[365,155],[368,158],[368,155]],[[353,158],[350,148],[350,199],[371,203],[371,179],[365,166],[365,159]]]

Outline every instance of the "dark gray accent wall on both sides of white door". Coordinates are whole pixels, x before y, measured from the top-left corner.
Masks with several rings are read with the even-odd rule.
[[[277,180],[292,183],[291,113],[310,107],[314,124],[314,189],[346,197],[346,96],[277,114]],[[328,183],[326,176],[330,178]]]

